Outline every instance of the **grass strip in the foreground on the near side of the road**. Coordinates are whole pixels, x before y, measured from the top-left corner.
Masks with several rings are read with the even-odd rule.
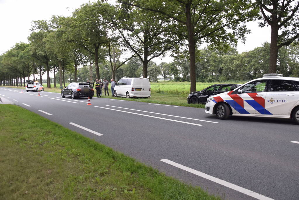
[[[22,107],[0,115],[0,199],[220,199]]]

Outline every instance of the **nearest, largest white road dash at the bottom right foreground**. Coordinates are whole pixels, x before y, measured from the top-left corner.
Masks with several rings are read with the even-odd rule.
[[[274,200],[274,199],[271,199],[271,198],[269,198],[269,197],[263,196],[263,195],[261,195],[261,194],[259,194],[259,193],[255,193],[255,192],[253,192],[253,191],[251,191],[251,190],[247,190],[247,189],[245,189],[245,188],[243,188],[243,187],[237,186],[237,185],[232,184],[232,183],[229,183],[229,182],[227,182],[227,181],[223,181],[223,180],[221,180],[221,179],[219,179],[219,178],[210,176],[210,175],[205,174],[205,173],[203,173],[203,172],[199,172],[199,171],[197,171],[197,170],[195,170],[195,169],[186,167],[186,166],[181,165],[181,164],[179,164],[179,163],[175,163],[175,162],[173,162],[173,161],[171,161],[171,160],[162,159],[162,160],[160,160],[160,161],[162,161],[162,162],[164,162],[164,163],[167,163],[167,164],[170,164],[170,165],[172,165],[172,166],[175,166],[175,167],[177,167],[177,168],[183,169],[183,170],[185,170],[185,171],[187,171],[187,172],[190,172],[190,173],[192,173],[192,174],[198,175],[198,176],[200,176],[200,177],[202,177],[202,178],[208,179],[208,180],[210,180],[210,181],[213,181],[213,182],[218,183],[218,184],[220,184],[220,185],[223,185],[223,186],[225,186],[225,187],[231,188],[231,189],[236,190],[236,191],[238,191],[238,192],[240,192],[240,193],[243,193],[243,194],[246,194],[246,195],[248,195],[248,196],[254,197],[254,198],[256,198],[256,199],[261,199],[261,200]]]

